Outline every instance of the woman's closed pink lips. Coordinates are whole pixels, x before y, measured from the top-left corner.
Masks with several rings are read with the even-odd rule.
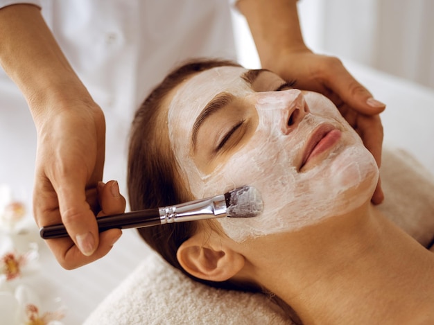
[[[339,139],[341,132],[331,124],[322,124],[316,128],[304,148],[301,170],[311,159],[331,148]]]

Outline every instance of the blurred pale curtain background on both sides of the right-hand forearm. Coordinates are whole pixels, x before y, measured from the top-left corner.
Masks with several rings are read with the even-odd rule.
[[[434,89],[434,1],[299,0],[304,40],[328,53]],[[259,66],[241,15],[234,12],[243,64]]]

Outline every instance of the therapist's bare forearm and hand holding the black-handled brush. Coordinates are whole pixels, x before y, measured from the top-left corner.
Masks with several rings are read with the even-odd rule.
[[[121,236],[119,229],[98,234],[95,217],[125,209],[116,183],[98,183],[105,158],[103,111],[64,57],[39,8],[1,9],[0,39],[0,64],[24,94],[37,130],[36,223],[67,227],[72,240],[46,241],[62,267],[91,263]]]

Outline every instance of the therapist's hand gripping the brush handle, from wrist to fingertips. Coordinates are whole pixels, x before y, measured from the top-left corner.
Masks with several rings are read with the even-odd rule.
[[[123,212],[125,199],[117,183],[110,183],[98,200],[105,154],[101,109],[92,100],[56,104],[32,109],[37,129],[33,209],[39,227],[63,222],[67,228],[72,240],[58,238],[46,243],[58,263],[69,270],[110,251],[121,231],[98,234],[96,215]]]

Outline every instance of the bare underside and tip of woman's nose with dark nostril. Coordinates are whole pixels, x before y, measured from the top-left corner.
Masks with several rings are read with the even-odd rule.
[[[280,129],[283,134],[288,135],[297,128],[304,116],[309,114],[309,107],[306,100],[304,100],[302,91],[299,89],[289,89],[285,90],[285,92],[287,96],[290,96],[290,100],[288,100],[286,107],[281,110]]]

